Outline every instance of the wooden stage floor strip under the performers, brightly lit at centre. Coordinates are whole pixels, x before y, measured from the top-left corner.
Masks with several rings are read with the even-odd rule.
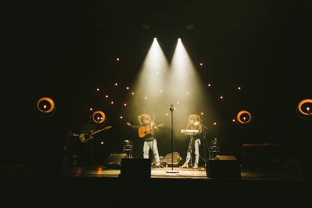
[[[107,166],[75,166],[73,164],[63,164],[60,168],[46,165],[44,168],[39,167],[36,171],[32,167],[24,165],[0,166],[0,175],[58,175],[62,177],[110,177],[118,178],[121,176],[121,167]],[[132,170],[132,168],[131,168]],[[130,170],[130,171],[131,171]],[[142,167],[133,167],[133,170],[140,171]],[[300,172],[286,171],[284,169],[269,170],[248,169],[240,167],[240,179],[262,179],[262,180],[299,180],[303,179]],[[139,176],[138,176],[139,177]],[[187,179],[211,179],[207,176],[206,167],[198,169],[185,169],[179,167],[150,168],[150,178],[187,178]],[[222,178],[222,177],[221,177]],[[231,177],[230,177],[231,178]],[[237,178],[235,178],[237,179]]]

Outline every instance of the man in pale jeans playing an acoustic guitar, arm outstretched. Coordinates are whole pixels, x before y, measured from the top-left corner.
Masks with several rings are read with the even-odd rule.
[[[139,136],[144,139],[143,144],[143,158],[149,158],[149,150],[151,149],[155,157],[156,168],[162,168],[160,164],[160,158],[157,147],[157,140],[155,137],[155,131],[158,131],[158,127],[154,124],[153,121],[150,121],[148,117],[142,117],[143,124],[141,126],[132,126],[130,123],[127,123],[133,129],[138,130]]]

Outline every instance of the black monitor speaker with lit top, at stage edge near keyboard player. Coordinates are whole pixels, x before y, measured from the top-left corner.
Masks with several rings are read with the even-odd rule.
[[[234,156],[217,155],[215,159],[207,160],[208,178],[240,178],[240,166]]]

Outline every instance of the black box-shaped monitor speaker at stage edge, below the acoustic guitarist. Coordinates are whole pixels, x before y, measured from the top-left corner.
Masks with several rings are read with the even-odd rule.
[[[120,176],[123,178],[150,178],[151,159],[123,158]]]

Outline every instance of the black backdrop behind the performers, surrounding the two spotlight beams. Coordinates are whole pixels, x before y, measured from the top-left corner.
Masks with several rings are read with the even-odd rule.
[[[64,134],[79,132],[90,106],[106,113],[107,121],[99,129],[113,127],[95,136],[104,142],[96,149],[98,163],[110,153],[121,153],[126,139],[135,142],[133,155],[140,155],[142,141],[125,125],[136,124],[136,118],[105,103],[95,89],[112,91],[117,103],[123,101],[125,93],[111,86],[134,85],[152,39],[158,37],[170,60],[181,37],[193,62],[204,63],[196,68],[204,83],[217,86],[205,89],[218,118],[217,126],[208,123],[209,116],[204,120],[207,140],[217,138],[221,154],[237,157],[245,143],[295,143],[302,155],[283,148],[281,158],[297,156],[308,164],[304,155],[310,155],[311,121],[299,118],[296,107],[312,97],[310,7],[310,1],[248,0],[2,3],[1,163],[63,154]],[[123,61],[116,62],[117,57]],[[239,93],[237,86],[242,87]],[[219,102],[219,95],[224,102]],[[34,111],[41,97],[56,103],[49,118]],[[240,110],[253,114],[250,127],[232,122]],[[160,155],[165,156],[171,152],[171,118],[157,119],[158,124],[166,123],[158,138]],[[184,159],[188,138],[179,131],[185,126],[174,126],[174,150]],[[79,152],[77,138],[71,142],[77,149],[73,151]],[[203,156],[204,145],[200,148]]]

